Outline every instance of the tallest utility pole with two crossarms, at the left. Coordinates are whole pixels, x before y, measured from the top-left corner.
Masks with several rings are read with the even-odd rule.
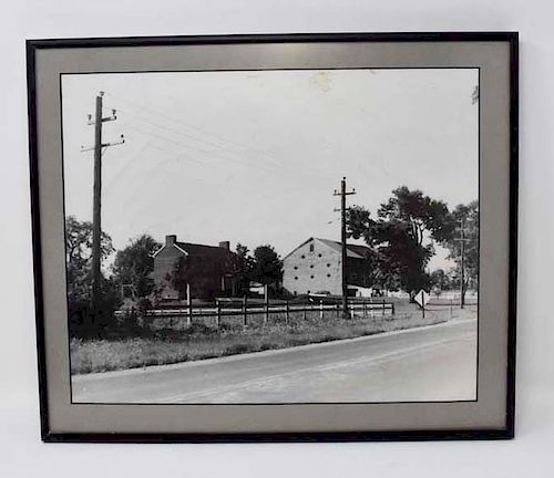
[[[94,150],[94,184],[93,184],[93,206],[92,206],[92,313],[98,315],[100,299],[101,299],[101,258],[102,258],[102,153],[110,146],[116,146],[125,143],[125,138],[121,135],[121,139],[116,143],[102,143],[102,124],[117,119],[115,110],[112,110],[112,116],[103,117],[102,102],[104,92],[100,92],[96,96],[96,110],[94,121],[92,115],[89,115],[89,125],[94,125],[94,147],[85,148],[81,146],[81,153]]]

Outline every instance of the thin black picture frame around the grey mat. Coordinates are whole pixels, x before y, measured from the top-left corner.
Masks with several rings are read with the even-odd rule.
[[[510,45],[510,238],[507,363],[505,426],[482,429],[432,429],[337,433],[59,433],[52,432],[45,355],[43,270],[41,246],[41,207],[39,197],[39,150],[37,121],[35,54],[45,49],[89,49],[119,46],[206,45],[287,42],[507,42]],[[516,32],[402,32],[402,33],[307,33],[238,34],[192,37],[130,37],[49,39],[27,41],[27,80],[29,115],[29,155],[31,219],[33,232],[35,325],[40,395],[41,438],[49,443],[252,443],[252,441],[390,441],[507,439],[514,436],[516,278],[517,278],[517,155],[519,155],[519,34]]]

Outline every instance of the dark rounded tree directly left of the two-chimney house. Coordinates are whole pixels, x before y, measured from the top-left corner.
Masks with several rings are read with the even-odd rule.
[[[117,251],[112,268],[117,285],[130,287],[138,299],[150,295],[154,289],[154,281],[150,277],[154,270],[152,256],[161,247],[151,236],[142,235]]]

